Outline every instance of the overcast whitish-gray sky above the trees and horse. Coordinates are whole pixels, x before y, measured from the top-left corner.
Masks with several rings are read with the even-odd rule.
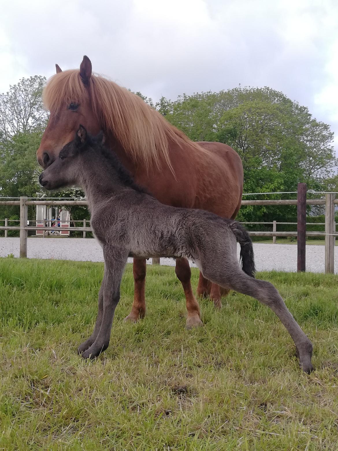
[[[158,100],[269,86],[331,125],[338,150],[337,0],[30,0],[0,8],[0,92],[78,68]]]

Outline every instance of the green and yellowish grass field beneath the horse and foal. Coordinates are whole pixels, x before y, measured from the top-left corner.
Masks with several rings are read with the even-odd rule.
[[[267,307],[203,299],[205,326],[186,331],[174,268],[147,269],[146,318],[123,323],[128,266],[110,346],[87,362],[102,264],[0,259],[0,449],[338,449],[337,276],[260,274],[314,343],[307,376]]]

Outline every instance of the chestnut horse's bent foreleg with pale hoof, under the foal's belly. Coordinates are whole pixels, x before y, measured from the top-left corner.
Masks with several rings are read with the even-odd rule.
[[[187,329],[203,326],[203,323],[201,322],[200,306],[198,305],[198,302],[196,301],[195,296],[192,292],[190,281],[191,269],[189,262],[185,258],[176,258],[175,272],[178,280],[182,283],[185,294],[187,306]]]

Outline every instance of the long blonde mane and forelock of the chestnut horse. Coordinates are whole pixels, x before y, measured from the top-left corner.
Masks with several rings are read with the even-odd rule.
[[[135,163],[142,162],[148,169],[152,164],[160,168],[165,162],[172,169],[168,141],[203,152],[197,143],[128,89],[92,74],[89,95],[102,129],[114,132]],[[53,75],[43,91],[44,105],[52,111],[58,111],[65,103],[81,104],[87,99],[88,92],[77,69]]]

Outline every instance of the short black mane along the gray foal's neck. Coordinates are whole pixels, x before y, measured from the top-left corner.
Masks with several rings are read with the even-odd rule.
[[[142,186],[134,182],[132,175],[123,166],[121,161],[119,161],[119,158],[116,156],[114,150],[107,149],[107,147],[105,147],[105,145],[102,143],[102,137],[100,135],[98,137],[94,137],[88,133],[87,144],[96,152],[101,153],[109,166],[111,166],[112,169],[117,173],[119,180],[124,185],[128,186],[129,188],[135,189],[135,191],[138,191],[139,193],[150,194],[146,191],[146,189],[142,188]]]

